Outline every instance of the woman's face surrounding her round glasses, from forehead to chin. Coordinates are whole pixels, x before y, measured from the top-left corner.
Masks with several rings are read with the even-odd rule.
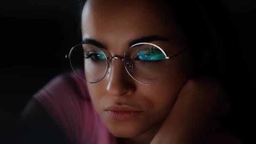
[[[171,56],[186,48],[183,35],[164,3],[149,0],[88,0],[82,14],[83,39],[105,45],[111,56],[123,57],[129,43],[142,37],[164,37],[147,42]],[[145,39],[144,39],[145,40]],[[145,41],[140,41],[145,42]],[[191,74],[188,51],[168,60],[152,85],[133,80],[123,61],[112,59],[107,75],[88,83],[93,105],[109,131],[117,137],[154,135],[171,112]]]

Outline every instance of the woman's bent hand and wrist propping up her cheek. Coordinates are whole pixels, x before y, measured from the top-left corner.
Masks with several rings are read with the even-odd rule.
[[[150,144],[205,144],[223,98],[216,80],[189,79]]]

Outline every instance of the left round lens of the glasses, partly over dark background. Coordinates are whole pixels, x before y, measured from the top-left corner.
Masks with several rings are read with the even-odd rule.
[[[99,82],[107,73],[107,57],[94,45],[76,45],[69,53],[69,60],[75,74],[89,83]]]

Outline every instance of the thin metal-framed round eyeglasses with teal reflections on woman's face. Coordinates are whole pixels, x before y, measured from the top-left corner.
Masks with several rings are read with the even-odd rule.
[[[75,45],[66,55],[75,74],[89,83],[101,81],[110,72],[110,60],[123,61],[128,74],[138,83],[151,85],[154,80],[162,77],[161,73],[168,66],[168,60],[186,51],[186,49],[172,56],[153,43],[137,43],[127,49],[123,58],[111,56],[103,48],[89,43]],[[77,71],[82,70],[82,72]]]

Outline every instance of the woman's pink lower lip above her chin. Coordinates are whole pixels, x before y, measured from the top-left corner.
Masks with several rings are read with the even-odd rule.
[[[141,113],[141,111],[134,112],[134,111],[112,111],[112,110],[107,110],[106,113],[107,113],[107,115],[109,115],[114,120],[128,121],[128,120],[133,120],[137,115],[139,115]]]

